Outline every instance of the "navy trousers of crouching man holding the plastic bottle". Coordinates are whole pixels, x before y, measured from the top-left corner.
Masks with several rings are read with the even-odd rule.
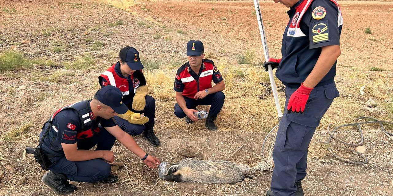
[[[217,93],[209,94],[208,96],[204,97],[203,99],[191,99],[188,97],[184,97],[185,105],[188,109],[195,109],[198,105],[211,105],[209,110],[209,116],[217,117],[220,113],[222,106],[224,105],[225,95],[222,91]],[[187,114],[184,113],[182,108],[179,106],[178,103],[174,104],[174,115],[178,118],[184,118]]]

